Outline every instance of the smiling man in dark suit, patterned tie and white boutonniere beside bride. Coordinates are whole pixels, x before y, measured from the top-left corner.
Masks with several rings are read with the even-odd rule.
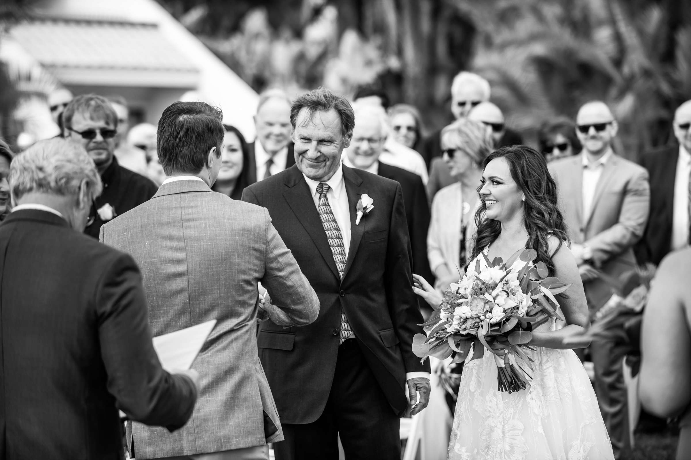
[[[422,315],[401,186],[341,163],[354,126],[343,97],[304,94],[290,120],[296,166],[243,193],[269,210],[321,303],[310,326],[259,330],[285,435],[276,459],[338,459],[340,435],[350,460],[399,460],[406,381],[413,414],[430,391],[429,366],[411,349]]]

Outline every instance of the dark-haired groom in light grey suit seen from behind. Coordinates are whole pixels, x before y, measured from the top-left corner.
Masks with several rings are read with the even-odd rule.
[[[305,326],[319,300],[264,208],[212,192],[222,168],[220,110],[176,102],[158,125],[158,156],[169,178],[151,201],[113,219],[101,241],[141,268],[154,335],[218,322],[193,368],[197,406],[169,433],[134,423],[137,459],[268,459],[283,440],[256,342],[257,283],[276,322]]]

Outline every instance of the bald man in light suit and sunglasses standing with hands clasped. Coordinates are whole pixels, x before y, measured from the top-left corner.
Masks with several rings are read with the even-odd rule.
[[[571,252],[574,254],[591,316],[614,294],[610,279],[636,265],[633,247],[648,219],[650,186],[645,168],[614,154],[617,123],[601,101],[586,103],[576,117],[580,154],[552,161]],[[622,334],[623,335],[623,334]],[[628,458],[630,434],[622,361],[623,340],[594,342],[595,392],[616,459]]]

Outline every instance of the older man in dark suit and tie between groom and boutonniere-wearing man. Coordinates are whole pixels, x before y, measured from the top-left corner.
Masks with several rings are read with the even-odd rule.
[[[295,164],[294,145],[290,141],[290,99],[278,89],[259,94],[254,115],[257,137],[247,144],[249,183],[278,174]]]

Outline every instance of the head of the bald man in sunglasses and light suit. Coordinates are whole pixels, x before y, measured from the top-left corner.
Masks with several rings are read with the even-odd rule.
[[[602,101],[585,103],[576,115],[576,135],[583,150],[592,157],[600,157],[612,148],[618,126],[612,111]]]

